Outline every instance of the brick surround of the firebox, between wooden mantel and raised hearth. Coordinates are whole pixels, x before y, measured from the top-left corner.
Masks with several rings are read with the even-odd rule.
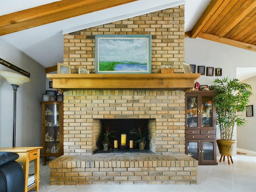
[[[92,154],[100,119],[150,119],[150,150],[185,152],[184,92],[167,90],[70,90],[64,92],[64,154]]]

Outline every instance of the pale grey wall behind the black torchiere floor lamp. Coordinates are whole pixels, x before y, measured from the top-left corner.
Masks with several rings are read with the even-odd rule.
[[[17,91],[16,146],[42,146],[40,102],[46,88],[45,68],[0,38],[0,58],[30,73]],[[18,72],[0,64],[0,71]],[[12,147],[13,90],[0,76],[0,147]]]

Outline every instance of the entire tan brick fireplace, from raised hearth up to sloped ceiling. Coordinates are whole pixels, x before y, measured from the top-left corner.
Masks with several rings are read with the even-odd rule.
[[[161,65],[172,65],[175,73],[182,72],[184,6],[64,35],[64,63],[71,66],[73,74],[80,67],[94,73],[95,34],[151,34],[152,73]],[[115,80],[109,80],[115,84]],[[71,81],[62,78],[59,82],[70,86]],[[158,82],[163,87],[172,84],[171,79],[168,83]],[[90,83],[84,80],[83,84]],[[49,163],[51,184],[196,183],[198,161],[184,154],[184,90],[62,89],[55,80],[53,86],[64,90],[64,156]],[[101,119],[138,118],[149,120],[150,153],[94,154]]]

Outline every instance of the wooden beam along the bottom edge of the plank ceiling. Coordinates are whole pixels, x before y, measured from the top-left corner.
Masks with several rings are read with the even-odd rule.
[[[211,41],[215,41],[215,42],[219,42],[219,43],[223,43],[223,44],[227,44],[227,45],[231,45],[231,46],[235,46],[238,48],[250,50],[250,51],[256,51],[255,45],[247,44],[247,43],[243,43],[243,42],[239,42],[239,41],[235,41],[235,40],[231,40],[231,39],[227,39],[227,38],[223,38],[223,37],[219,37],[219,36],[215,36],[215,35],[211,35],[211,34],[206,34],[206,33],[201,32],[200,34],[198,34],[198,37],[207,39],[207,40],[211,40]]]

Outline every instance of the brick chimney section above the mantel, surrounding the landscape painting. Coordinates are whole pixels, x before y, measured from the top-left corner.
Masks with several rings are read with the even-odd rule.
[[[65,34],[64,64],[71,66],[71,73],[78,73],[81,67],[95,72],[96,34],[151,34],[152,73],[162,65],[172,65],[174,72],[183,72],[180,62],[184,61],[184,5]]]

